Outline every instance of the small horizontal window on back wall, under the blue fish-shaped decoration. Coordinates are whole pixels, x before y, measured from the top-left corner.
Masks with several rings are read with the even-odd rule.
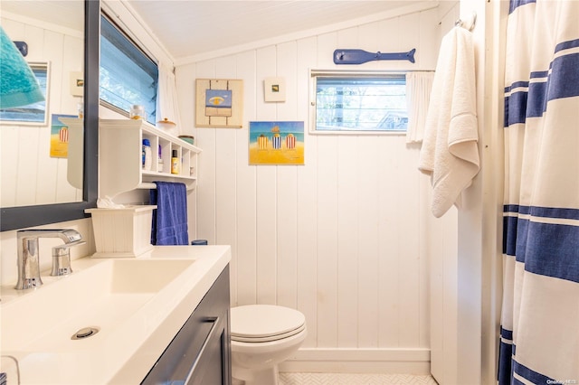
[[[311,71],[315,133],[405,133],[403,74]]]

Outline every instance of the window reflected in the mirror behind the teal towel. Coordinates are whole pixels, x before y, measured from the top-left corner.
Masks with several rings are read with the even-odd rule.
[[[18,125],[46,125],[48,111],[46,109],[46,92],[48,91],[48,62],[28,63],[43,91],[44,100],[28,106],[0,109],[0,120],[14,122]]]

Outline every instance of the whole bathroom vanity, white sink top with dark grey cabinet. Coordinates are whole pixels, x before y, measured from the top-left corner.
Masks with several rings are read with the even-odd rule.
[[[2,286],[8,383],[18,370],[21,384],[230,384],[230,259],[229,246],[157,246]]]

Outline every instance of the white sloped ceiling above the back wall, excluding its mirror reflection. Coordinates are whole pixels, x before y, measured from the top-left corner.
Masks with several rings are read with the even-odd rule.
[[[128,0],[176,59],[345,23],[413,0]]]

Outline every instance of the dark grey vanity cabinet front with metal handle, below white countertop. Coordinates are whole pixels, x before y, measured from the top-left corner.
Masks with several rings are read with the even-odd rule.
[[[229,267],[141,383],[231,385]]]

